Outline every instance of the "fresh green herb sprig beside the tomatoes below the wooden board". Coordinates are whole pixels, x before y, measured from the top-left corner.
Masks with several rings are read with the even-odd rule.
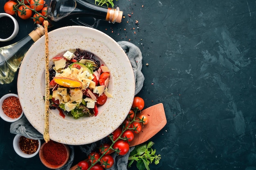
[[[155,155],[156,150],[153,150],[151,147],[154,145],[154,142],[148,142],[148,144],[142,144],[135,146],[134,150],[129,155],[128,160],[130,160],[128,167],[131,167],[134,161],[137,161],[137,168],[139,170],[150,170],[149,164],[155,160],[155,164],[159,163],[161,155]]]

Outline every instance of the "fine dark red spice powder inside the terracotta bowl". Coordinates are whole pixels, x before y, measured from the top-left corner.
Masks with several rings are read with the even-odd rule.
[[[50,140],[43,147],[43,156],[51,165],[61,165],[67,158],[67,150],[63,144]]]

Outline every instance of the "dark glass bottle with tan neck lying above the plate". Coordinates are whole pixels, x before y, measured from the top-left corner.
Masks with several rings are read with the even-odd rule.
[[[99,20],[106,20],[111,23],[120,23],[123,11],[119,7],[102,7],[86,0],[51,0],[48,6],[47,16],[52,21],[59,21],[67,16],[91,16]]]

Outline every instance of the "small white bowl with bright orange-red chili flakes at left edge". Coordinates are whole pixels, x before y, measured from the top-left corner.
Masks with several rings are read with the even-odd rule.
[[[10,93],[10,94],[6,94],[6,95],[2,96],[2,98],[0,98],[0,117],[2,118],[2,120],[5,120],[6,122],[15,122],[23,116],[23,111],[21,109],[20,103],[18,102],[19,103],[19,105],[18,105],[17,103],[14,103],[14,100],[13,101],[11,100],[10,102],[7,103],[7,105],[4,105],[4,107],[3,107],[3,103],[5,103],[4,100],[9,97],[18,98],[18,95]],[[21,110],[21,114],[17,118],[10,118],[9,116],[7,116],[7,114],[9,114],[9,111],[13,111],[13,110],[17,111],[18,110],[14,106],[19,107],[18,109]]]

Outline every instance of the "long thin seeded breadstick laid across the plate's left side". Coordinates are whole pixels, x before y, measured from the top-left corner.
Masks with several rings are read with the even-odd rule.
[[[45,142],[49,142],[49,38],[48,38],[48,21],[43,22],[45,27],[45,127],[43,137]]]

